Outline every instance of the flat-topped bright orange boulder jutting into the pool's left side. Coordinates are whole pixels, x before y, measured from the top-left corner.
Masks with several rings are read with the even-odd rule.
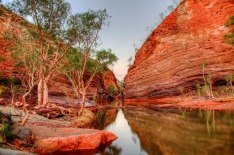
[[[71,133],[72,132],[73,131],[71,130]],[[107,131],[96,131],[89,134],[39,139],[37,141],[37,147],[39,150],[42,150],[41,153],[52,153],[56,151],[94,151],[100,147],[111,144],[115,139],[117,139],[117,137],[113,133]]]

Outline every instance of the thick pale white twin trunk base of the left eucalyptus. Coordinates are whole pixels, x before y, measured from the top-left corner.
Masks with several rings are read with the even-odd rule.
[[[40,80],[38,83],[38,104],[46,107],[49,102],[48,87],[45,80]]]

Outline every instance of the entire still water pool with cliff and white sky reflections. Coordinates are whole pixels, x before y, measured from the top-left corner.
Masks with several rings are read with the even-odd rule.
[[[99,111],[95,128],[118,136],[102,155],[233,155],[234,112]]]

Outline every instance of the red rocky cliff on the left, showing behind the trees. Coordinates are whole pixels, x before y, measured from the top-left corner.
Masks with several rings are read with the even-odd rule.
[[[23,30],[36,29],[35,25],[28,23],[20,16],[0,6],[0,80],[9,77],[17,77],[18,69],[14,67],[15,63],[11,57],[11,48],[13,44],[5,39],[6,33],[20,35]],[[88,75],[87,75],[88,76]],[[1,83],[0,83],[1,84]],[[114,85],[118,91],[115,75],[112,71],[106,69],[102,75],[97,75],[87,92],[87,97],[92,98],[100,95],[100,99],[108,98],[107,90],[110,85]],[[64,95],[72,93],[69,80],[65,76],[58,76],[48,84],[50,95]],[[104,96],[104,97],[103,97]]]

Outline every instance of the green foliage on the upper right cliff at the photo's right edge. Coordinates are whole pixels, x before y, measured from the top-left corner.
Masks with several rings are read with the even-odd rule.
[[[234,15],[230,16],[224,25],[226,27],[231,27],[231,30],[228,34],[223,35],[223,39],[226,41],[226,43],[234,46]]]

